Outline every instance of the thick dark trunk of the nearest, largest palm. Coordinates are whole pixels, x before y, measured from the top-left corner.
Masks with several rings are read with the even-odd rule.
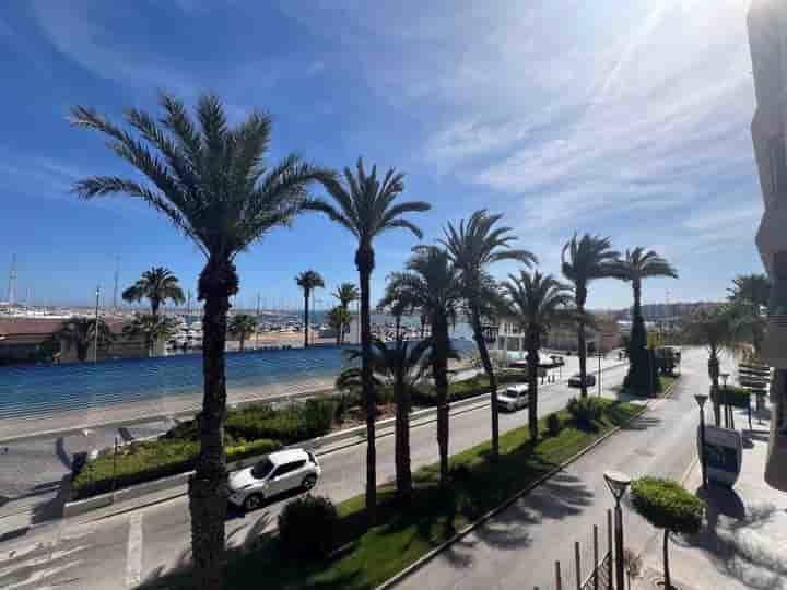
[[[199,297],[205,302],[202,318],[204,397],[199,417],[200,455],[189,479],[191,547],[195,586],[222,588],[227,472],[224,452],[226,416],[225,352],[230,296],[237,293],[235,267],[227,260],[208,261],[200,274]]]

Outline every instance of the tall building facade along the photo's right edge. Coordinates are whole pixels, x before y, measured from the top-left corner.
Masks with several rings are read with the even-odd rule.
[[[787,491],[787,2],[752,0],[748,27],[757,103],[751,133],[765,205],[756,246],[773,285],[763,356],[776,369],[765,481]]]

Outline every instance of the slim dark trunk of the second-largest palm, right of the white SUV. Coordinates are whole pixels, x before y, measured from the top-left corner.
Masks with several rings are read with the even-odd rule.
[[[374,268],[374,250],[360,247],[355,264],[361,282],[361,388],[366,408],[366,515],[369,524],[377,521],[377,448],[375,440],[375,391],[372,380],[372,319],[369,317],[369,281]]]

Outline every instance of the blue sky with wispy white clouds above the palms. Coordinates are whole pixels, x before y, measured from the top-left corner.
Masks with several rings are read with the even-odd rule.
[[[89,303],[151,266],[193,287],[203,263],[165,221],[126,198],[81,202],[90,174],[128,173],[74,104],[119,119],[155,109],[157,88],[203,91],[233,120],[274,119],[272,157],[291,151],[342,167],[363,155],[407,173],[406,197],[433,211],[425,240],[480,208],[506,215],[542,266],[559,271],[574,231],[657,249],[679,281],[645,302],[717,299],[760,271],[762,214],[749,123],[754,110],[745,0],[552,2],[30,0],[0,8],[0,294],[11,253],[19,297]],[[375,294],[414,245],[377,244]],[[239,259],[238,304],[295,302],[293,276],[332,287],[356,278],[353,241],[303,216]],[[496,269],[504,275],[513,270]],[[318,297],[328,300],[327,293]],[[0,297],[2,298],[2,297]],[[595,308],[630,288],[594,284]]]

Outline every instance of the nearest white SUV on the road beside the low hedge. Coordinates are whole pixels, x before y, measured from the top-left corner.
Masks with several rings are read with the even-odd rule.
[[[293,489],[312,489],[320,473],[313,452],[304,449],[271,452],[256,465],[230,477],[230,502],[245,510],[255,510],[266,498]]]

